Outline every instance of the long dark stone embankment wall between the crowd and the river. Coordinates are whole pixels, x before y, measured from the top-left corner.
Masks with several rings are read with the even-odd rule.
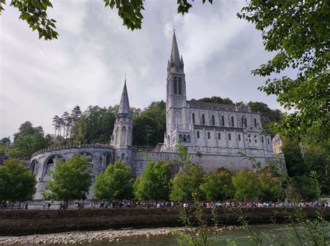
[[[308,217],[315,218],[315,208],[304,208]],[[290,208],[244,208],[250,223],[285,222],[292,214]],[[0,235],[27,235],[33,233],[54,233],[77,230],[121,229],[127,227],[173,227],[180,225],[180,211],[172,208],[124,208],[84,209],[81,211],[1,211]],[[191,211],[188,211],[191,213]],[[330,209],[325,213],[330,218]],[[242,213],[234,208],[218,208],[220,224],[237,224]],[[212,211],[205,209],[205,216],[212,218]]]

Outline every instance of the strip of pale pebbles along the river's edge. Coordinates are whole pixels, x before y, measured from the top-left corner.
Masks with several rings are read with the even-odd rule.
[[[231,231],[239,227],[220,227],[219,231]],[[173,229],[184,230],[184,227]],[[31,245],[31,244],[86,244],[103,240],[104,242],[116,242],[125,238],[139,238],[152,236],[168,236],[171,231],[167,228],[126,229],[126,230],[102,230],[102,231],[71,231],[64,233],[35,234],[29,236],[0,236],[0,245]]]

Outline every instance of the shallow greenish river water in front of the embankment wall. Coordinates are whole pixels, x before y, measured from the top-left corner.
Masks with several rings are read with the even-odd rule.
[[[299,242],[297,238],[288,234],[288,230],[285,228],[285,224],[260,224],[251,225],[251,229],[255,231],[260,238],[262,238],[262,245],[288,245],[288,243],[293,243],[297,245]],[[330,225],[325,227],[328,238],[330,239]],[[293,231],[291,231],[293,232]],[[290,236],[290,238],[288,238]],[[249,238],[249,233],[246,229],[233,229],[231,231],[225,231],[219,235],[212,245],[227,245],[226,241],[228,239],[235,240],[237,245],[255,245]],[[109,241],[97,241],[93,243],[86,243],[82,245],[93,245],[93,246],[105,246],[105,245],[116,245],[116,246],[177,246],[179,245],[177,238],[175,236],[152,236],[146,238],[146,236],[141,236],[139,238],[125,238],[118,242]]]

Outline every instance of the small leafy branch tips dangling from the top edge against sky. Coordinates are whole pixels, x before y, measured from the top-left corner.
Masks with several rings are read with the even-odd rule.
[[[140,29],[142,24],[143,0],[103,0],[104,7],[118,9],[118,16],[123,19],[123,25],[132,31]],[[206,0],[202,0],[205,3]],[[208,0],[212,3],[212,0]],[[100,3],[102,0],[100,0]],[[0,3],[6,4],[6,0],[1,0]],[[53,8],[49,0],[11,0],[10,6],[17,8],[21,15],[19,19],[24,20],[29,24],[33,31],[37,30],[39,39],[52,40],[58,37],[56,29],[56,20],[50,19],[47,15],[47,9]],[[178,13],[188,13],[191,4],[188,0],[178,0]],[[0,4],[0,13],[3,7]]]

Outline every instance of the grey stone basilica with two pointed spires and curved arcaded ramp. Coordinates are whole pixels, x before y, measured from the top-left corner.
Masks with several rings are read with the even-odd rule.
[[[121,95],[113,135],[108,145],[69,145],[42,149],[33,154],[30,168],[36,174],[37,192],[34,199],[42,199],[49,170],[54,170],[61,158],[74,154],[86,156],[93,172],[104,172],[107,165],[121,159],[138,177],[150,161],[172,161],[178,158],[176,145],[187,147],[191,161],[198,163],[205,172],[219,167],[236,171],[242,167],[257,170],[269,163],[285,167],[283,157],[273,154],[271,136],[262,129],[260,114],[245,104],[228,105],[187,100],[184,62],[179,54],[173,33],[171,56],[166,78],[166,132],[164,142],[155,149],[136,149],[132,145],[133,117],[129,107],[126,80]],[[141,151],[142,150],[142,151]],[[251,158],[253,157],[253,158]],[[252,160],[253,159],[253,160]],[[260,166],[256,165],[259,163]],[[91,198],[93,184],[88,197]]]

